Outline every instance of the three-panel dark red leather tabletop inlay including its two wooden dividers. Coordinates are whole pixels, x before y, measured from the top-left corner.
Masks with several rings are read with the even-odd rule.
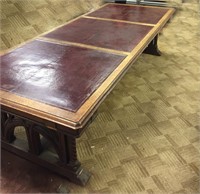
[[[79,17],[1,56],[1,89],[76,112],[167,11],[107,4]]]

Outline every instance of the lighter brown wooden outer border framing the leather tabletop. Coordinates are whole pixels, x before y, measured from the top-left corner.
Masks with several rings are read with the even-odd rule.
[[[113,88],[117,84],[117,81],[119,80],[119,78],[123,74],[125,74],[125,72],[128,70],[128,68],[130,67],[130,63],[132,63],[133,61],[137,59],[137,57],[145,49],[146,45],[148,45],[150,41],[160,32],[162,27],[173,15],[174,11],[175,10],[173,8],[168,8],[168,12],[161,18],[161,20],[152,28],[152,30],[143,38],[143,40],[130,52],[130,54],[120,63],[119,67],[116,68],[109,75],[109,77],[101,84],[101,86],[85,101],[85,103],[79,108],[79,110],[76,113],[67,111],[64,109],[60,109],[48,104],[44,104],[36,100],[27,99],[25,97],[21,97],[16,94],[11,94],[9,92],[2,91],[2,90],[0,91],[0,94],[1,94],[0,103],[3,106],[7,106],[10,108],[14,107],[16,110],[20,112],[24,112],[24,113],[27,113],[28,115],[39,117],[44,120],[48,120],[49,122],[57,123],[65,127],[70,127],[73,130],[83,128],[83,126],[87,123],[91,115],[97,109],[98,105],[109,94],[110,89]],[[78,18],[80,17],[82,16],[79,16]],[[78,18],[75,18],[72,21],[77,20]],[[67,23],[70,23],[72,21],[69,21]],[[67,23],[63,25],[66,25]],[[61,26],[56,27],[55,29],[60,28]],[[51,32],[53,30],[50,30],[48,32]],[[46,34],[46,33],[43,33],[43,34]],[[56,115],[52,113],[56,113]]]

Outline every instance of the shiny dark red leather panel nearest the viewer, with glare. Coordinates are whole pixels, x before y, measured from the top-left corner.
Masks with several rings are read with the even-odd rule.
[[[123,59],[35,40],[1,57],[1,89],[76,111]]]

